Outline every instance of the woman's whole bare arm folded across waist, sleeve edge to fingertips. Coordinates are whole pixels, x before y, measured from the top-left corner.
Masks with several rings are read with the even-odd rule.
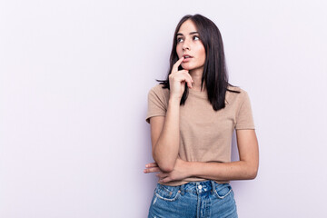
[[[254,130],[236,130],[240,161],[232,163],[185,162],[177,159],[173,171],[161,172],[156,163],[145,165],[144,173],[159,172],[156,175],[163,183],[196,176],[209,180],[251,180],[259,168],[259,147]]]

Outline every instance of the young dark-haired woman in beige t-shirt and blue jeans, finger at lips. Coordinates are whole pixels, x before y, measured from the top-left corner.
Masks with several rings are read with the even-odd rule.
[[[223,40],[203,15],[185,15],[173,35],[169,74],[148,94],[159,181],[148,217],[237,217],[231,180],[256,177],[259,151],[248,94],[228,83]],[[231,162],[233,131],[240,161]]]

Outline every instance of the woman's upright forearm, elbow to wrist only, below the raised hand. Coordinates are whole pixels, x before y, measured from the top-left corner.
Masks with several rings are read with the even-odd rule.
[[[180,144],[180,98],[170,98],[163,130],[154,145],[153,157],[163,172],[173,171]]]

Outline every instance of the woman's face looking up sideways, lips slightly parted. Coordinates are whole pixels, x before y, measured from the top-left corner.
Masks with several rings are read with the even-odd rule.
[[[186,20],[177,32],[176,53],[179,58],[184,56],[184,70],[199,70],[203,73],[205,49],[197,33],[193,21]],[[188,55],[185,57],[185,55]]]

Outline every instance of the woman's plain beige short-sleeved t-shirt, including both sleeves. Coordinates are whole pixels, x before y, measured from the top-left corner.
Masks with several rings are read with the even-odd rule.
[[[150,117],[165,116],[168,108],[169,89],[156,84],[148,94],[146,122]],[[254,129],[253,114],[248,94],[239,87],[228,87],[241,93],[227,91],[226,105],[215,112],[206,91],[189,89],[184,105],[180,106],[179,157],[187,162],[231,162],[232,136],[234,129]],[[207,179],[189,177],[179,181],[162,183],[181,185]],[[229,183],[230,181],[215,181]]]

